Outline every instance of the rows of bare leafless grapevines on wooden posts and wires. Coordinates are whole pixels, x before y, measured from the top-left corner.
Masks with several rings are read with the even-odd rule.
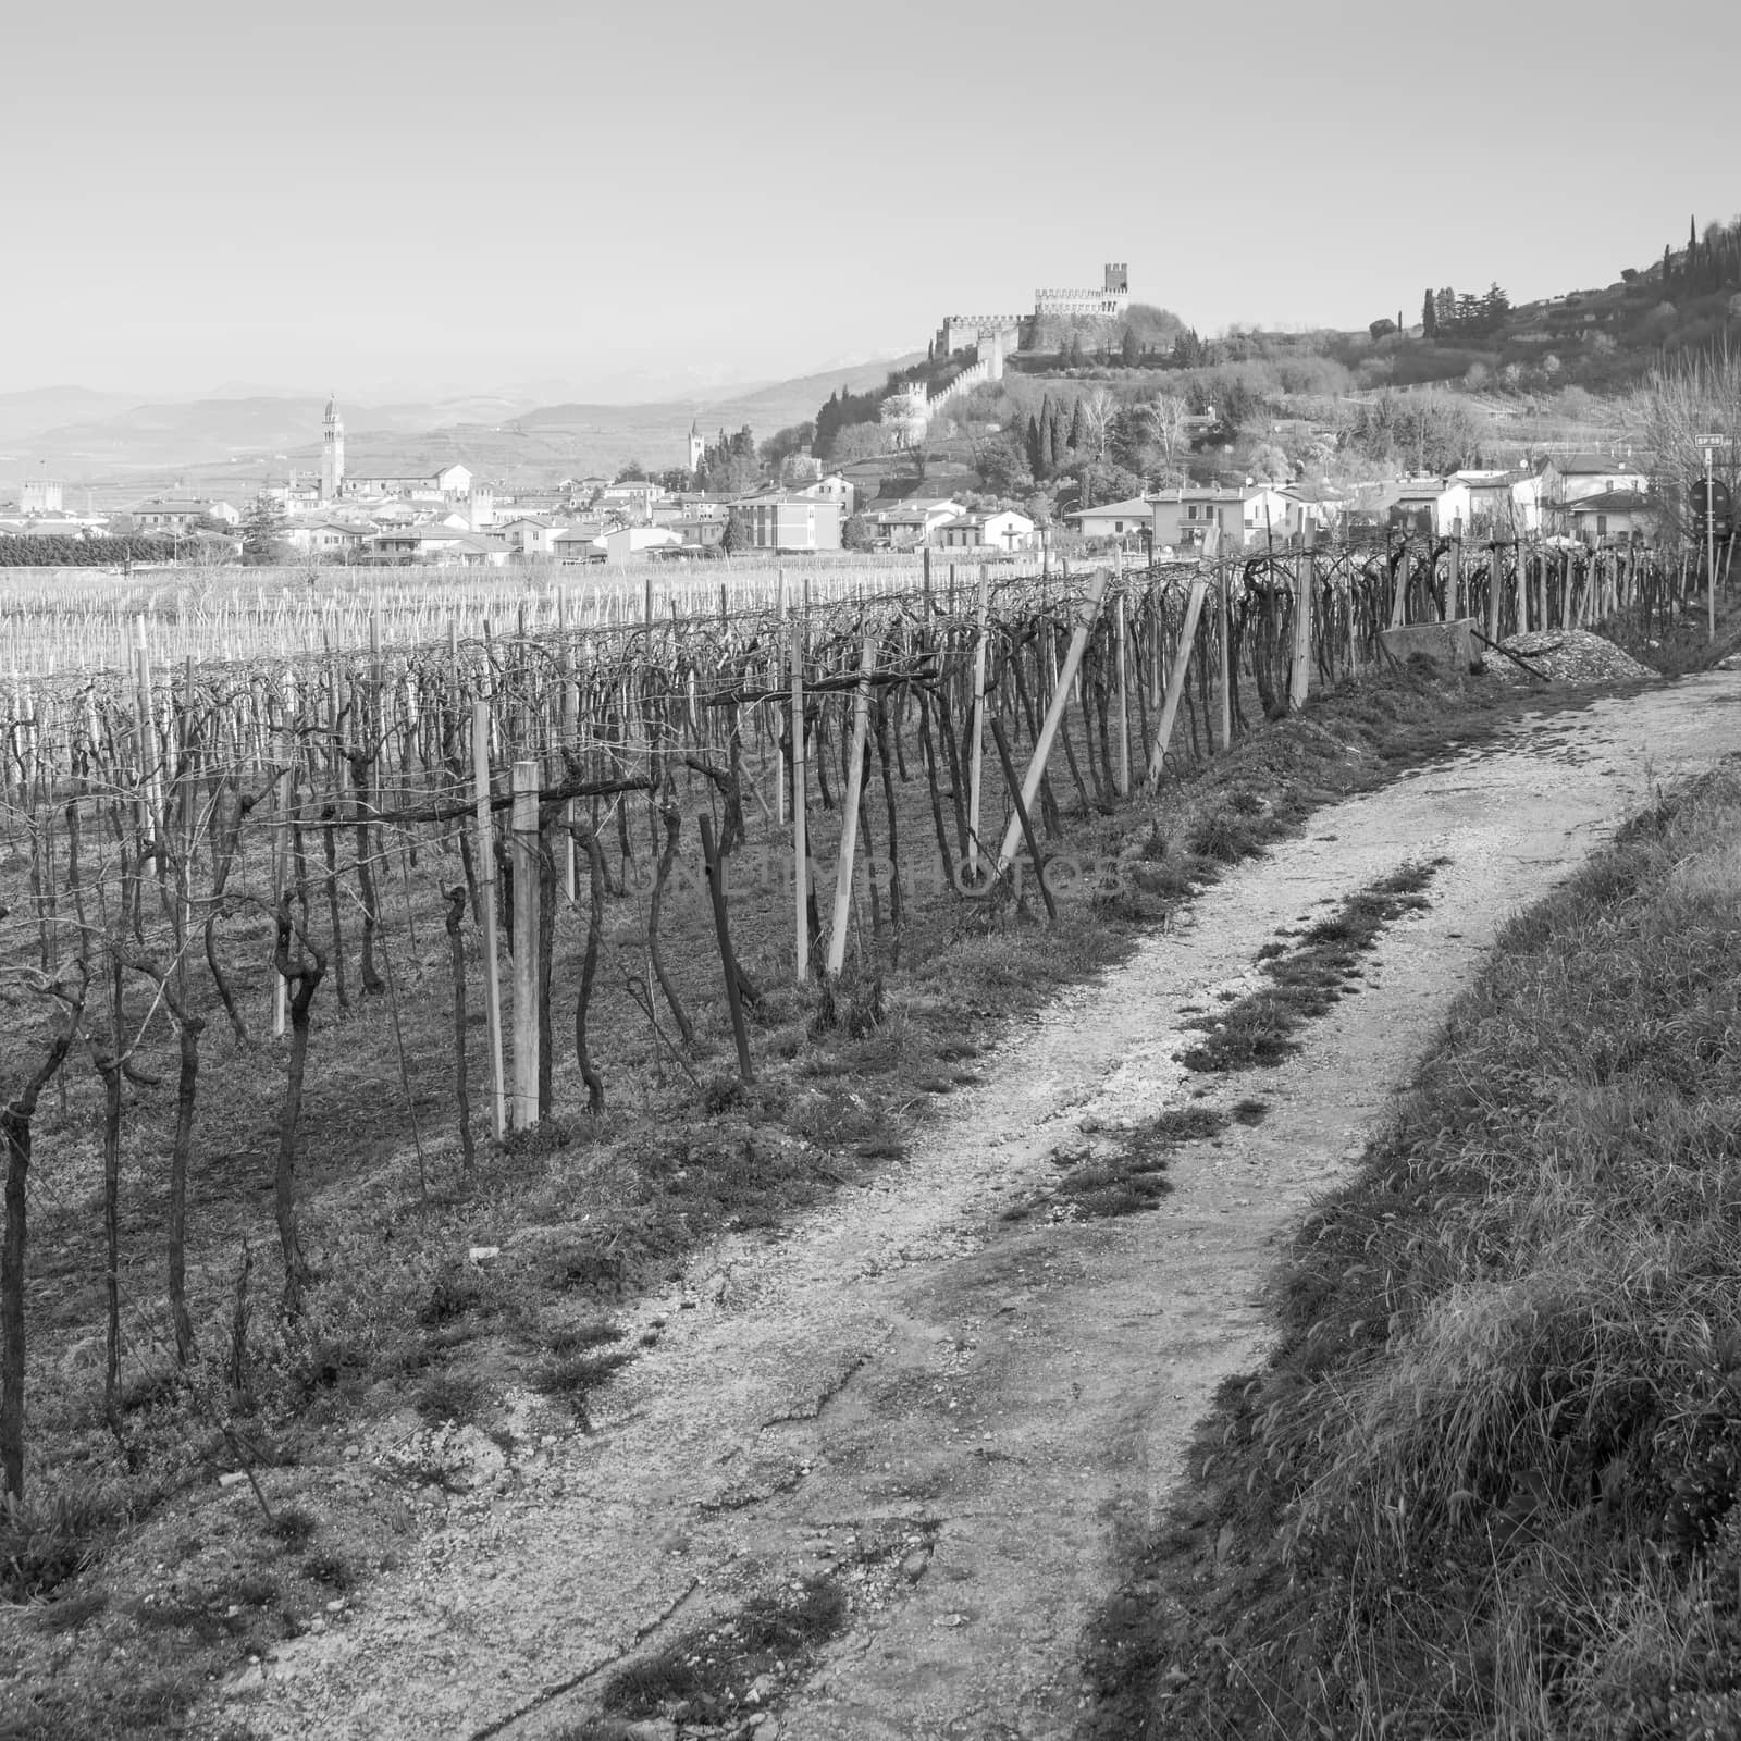
[[[139,1396],[202,1354],[245,1400],[249,1288],[319,1321],[360,1179],[414,1205],[545,1125],[736,1104],[806,1024],[874,1029],[888,970],[1116,909],[1130,865],[1059,851],[1065,817],[1389,660],[1386,630],[1649,634],[1685,585],[1649,554],[1419,540],[1086,575],[9,581],[7,1490],[42,1478],[38,1419],[131,1457]],[[33,1262],[44,1233],[91,1260]]]

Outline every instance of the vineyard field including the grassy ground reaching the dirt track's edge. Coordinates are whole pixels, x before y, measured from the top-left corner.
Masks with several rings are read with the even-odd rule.
[[[1435,581],[1455,590],[1443,562],[1325,552],[1313,573],[1327,698],[1274,729],[1295,632],[1283,569],[1001,575],[984,641],[966,575],[952,592],[947,575],[930,592],[817,587],[808,611],[794,585],[783,615],[747,595],[686,613],[677,595],[649,618],[639,588],[641,611],[629,594],[585,620],[550,592],[388,594],[373,642],[374,597],[334,595],[322,635],[327,601],[298,618],[261,592],[228,615],[164,608],[143,656],[118,592],[71,625],[14,611],[37,663],[9,691],[0,860],[10,1595],[77,1600],[129,1520],[214,1476],[252,1485],[407,1396],[428,1421],[487,1426],[514,1372],[585,1422],[588,1389],[632,1358],[616,1301],[714,1229],[872,1172],[971,1067],[975,1034],[1163,923],[1314,790],[1379,776],[1400,743],[1435,742],[1435,714],[1469,712],[1408,672],[1377,696],[1346,688],[1398,592],[1431,615]],[[1516,576],[1497,578],[1509,613]],[[1548,561],[1525,580],[1562,616],[1609,587],[1644,609],[1657,585]],[[1485,615],[1476,575],[1461,583]],[[489,630],[461,634],[467,609]],[[233,656],[200,662],[211,635]],[[1330,749],[1314,719],[1341,733]],[[1348,742],[1382,754],[1360,768]],[[1020,789],[1050,886],[1020,862]],[[975,857],[1008,874],[977,886]],[[493,961],[512,1012],[500,1088]],[[498,1295],[465,1254],[517,1229],[536,1229],[541,1280]],[[289,1541],[282,1506],[261,1511]],[[190,1563],[211,1588],[148,1652],[143,1703],[104,1717],[115,1732],[167,1720],[190,1673],[303,1624],[322,1577],[364,1572],[273,1560],[265,1593],[219,1600],[218,1569]],[[235,1612],[212,1626],[214,1609]],[[47,1715],[21,1732],[64,1732],[71,1706],[44,1703],[38,1668],[21,1687]]]

